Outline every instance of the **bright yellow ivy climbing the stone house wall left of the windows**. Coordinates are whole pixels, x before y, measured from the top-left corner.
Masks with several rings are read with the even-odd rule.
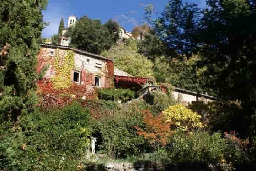
[[[68,50],[64,54],[60,54],[57,49],[54,57],[55,76],[52,78],[55,89],[65,89],[71,86],[71,71],[74,67],[75,53]]]

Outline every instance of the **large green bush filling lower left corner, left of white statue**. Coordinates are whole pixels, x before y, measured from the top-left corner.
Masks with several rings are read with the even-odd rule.
[[[45,114],[37,110],[0,132],[2,170],[77,170],[90,145],[90,114],[75,103]],[[4,123],[4,125],[8,125]]]

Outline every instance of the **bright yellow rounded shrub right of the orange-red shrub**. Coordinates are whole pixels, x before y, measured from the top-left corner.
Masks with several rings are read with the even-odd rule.
[[[162,112],[166,122],[171,123],[174,129],[178,128],[182,131],[188,131],[194,128],[203,128],[204,125],[200,122],[201,116],[185,105],[177,104],[170,106]]]

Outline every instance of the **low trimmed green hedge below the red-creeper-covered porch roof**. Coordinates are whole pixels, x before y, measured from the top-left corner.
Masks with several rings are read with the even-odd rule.
[[[135,92],[130,89],[98,89],[98,97],[101,100],[127,102],[135,98]]]

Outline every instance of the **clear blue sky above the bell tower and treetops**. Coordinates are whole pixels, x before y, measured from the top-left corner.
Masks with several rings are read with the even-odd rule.
[[[183,1],[195,2],[199,7],[205,5],[205,0]],[[43,30],[42,37],[49,38],[53,34],[57,34],[62,17],[65,27],[67,27],[70,15],[75,15],[78,18],[86,15],[92,19],[100,19],[102,23],[114,18],[123,28],[131,31],[136,24],[139,25],[143,22],[145,5],[153,4],[155,10],[161,12],[167,2],[168,0],[49,0],[43,15],[44,21],[50,22],[50,25]],[[131,19],[130,22],[128,19]]]

